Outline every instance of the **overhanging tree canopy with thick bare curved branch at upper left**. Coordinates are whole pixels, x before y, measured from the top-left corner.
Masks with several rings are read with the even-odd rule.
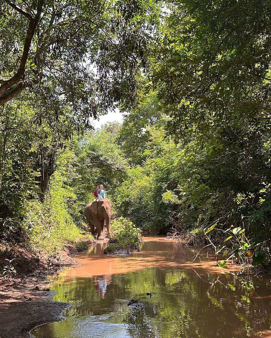
[[[0,104],[28,89],[74,122],[130,104],[157,22],[155,1],[5,0]]]

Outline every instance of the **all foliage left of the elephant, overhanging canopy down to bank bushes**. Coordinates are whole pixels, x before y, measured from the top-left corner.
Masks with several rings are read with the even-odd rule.
[[[98,181],[109,190],[118,184],[125,161],[105,134],[85,131],[90,117],[113,111],[117,102],[134,104],[157,6],[1,2],[1,240],[25,242],[36,232],[36,244],[48,237],[55,247],[74,237],[66,230],[82,220]]]

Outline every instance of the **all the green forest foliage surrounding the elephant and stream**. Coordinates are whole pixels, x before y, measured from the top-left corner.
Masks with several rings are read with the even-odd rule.
[[[3,88],[17,74],[30,20],[15,7],[38,15],[32,4],[7,3],[0,6]],[[136,227],[174,227],[205,238],[225,258],[268,264],[270,1],[158,5],[42,7],[25,77],[0,92],[1,99],[22,82],[33,86],[0,113],[1,236],[29,236],[31,203],[43,215],[47,205],[67,207],[65,223],[82,224],[83,206],[101,182],[119,216]],[[121,126],[76,136],[90,116],[116,103]]]

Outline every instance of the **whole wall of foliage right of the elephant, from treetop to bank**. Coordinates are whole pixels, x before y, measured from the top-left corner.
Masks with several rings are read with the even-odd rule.
[[[253,255],[253,264],[267,264],[270,253],[269,8],[168,3],[146,83],[167,117],[167,137],[156,143],[164,131],[153,128],[143,166],[116,198],[138,224],[196,228],[217,252],[241,262]]]

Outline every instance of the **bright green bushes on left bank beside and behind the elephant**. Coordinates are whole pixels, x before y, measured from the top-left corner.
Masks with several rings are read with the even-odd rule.
[[[95,186],[103,183],[110,195],[126,174],[127,161],[114,143],[117,127],[117,124],[106,125],[75,138],[66,150],[59,151],[42,200],[36,185],[36,164],[31,161],[33,153],[24,153],[28,159],[27,172],[21,162],[15,162],[18,169],[13,165],[15,156],[5,157],[5,163],[10,163],[13,170],[10,169],[9,176],[1,175],[5,182],[2,188],[9,186],[13,191],[1,189],[1,239],[6,243],[26,241],[33,248],[53,251],[63,241],[82,236],[80,228],[87,230],[83,210],[94,199]],[[10,144],[14,146],[11,141]],[[6,145],[12,154],[13,148]]]

